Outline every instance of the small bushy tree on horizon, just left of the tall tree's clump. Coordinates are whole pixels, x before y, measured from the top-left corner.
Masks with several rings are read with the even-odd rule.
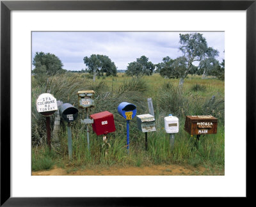
[[[126,74],[130,76],[152,75],[155,65],[148,61],[148,57],[141,56],[136,61],[128,63]]]

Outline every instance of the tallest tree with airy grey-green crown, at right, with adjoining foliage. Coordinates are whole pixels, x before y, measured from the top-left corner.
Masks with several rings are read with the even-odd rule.
[[[200,33],[180,34],[180,51],[183,56],[176,59],[163,59],[163,63],[159,63],[160,75],[168,78],[179,78],[179,86],[183,86],[184,79],[188,74],[194,74],[198,68],[204,70],[212,70],[216,66],[216,57],[219,55],[218,50],[208,47],[207,41]],[[195,66],[198,62],[198,67]]]

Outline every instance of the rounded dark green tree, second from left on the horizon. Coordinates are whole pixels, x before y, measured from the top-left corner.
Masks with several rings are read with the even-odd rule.
[[[84,57],[83,60],[88,67],[88,72],[93,74],[93,81],[95,81],[95,76],[103,76],[104,73],[106,76],[116,76],[117,68],[108,56],[92,54],[90,57]]]

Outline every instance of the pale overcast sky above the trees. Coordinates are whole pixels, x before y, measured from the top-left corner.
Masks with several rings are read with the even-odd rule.
[[[182,32],[182,34],[189,32]],[[225,59],[224,32],[199,32],[208,47],[220,52],[218,60]],[[163,57],[179,57],[180,32],[32,32],[32,59],[36,52],[51,53],[60,58],[66,70],[86,68],[83,58],[92,54],[108,56],[118,70],[126,70],[128,63],[141,56],[152,63]]]

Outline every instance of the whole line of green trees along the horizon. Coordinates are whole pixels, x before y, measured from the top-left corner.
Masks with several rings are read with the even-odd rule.
[[[161,63],[153,64],[148,61],[148,57],[141,56],[131,63],[128,63],[125,73],[129,76],[152,75],[154,72],[160,73],[162,77],[169,79],[180,79],[179,86],[183,86],[184,79],[191,75],[202,75],[204,79],[207,75],[214,75],[218,79],[225,79],[225,60],[221,63],[216,59],[219,52],[212,47],[208,47],[207,41],[200,33],[180,34],[180,47],[182,56],[172,59],[169,56],[163,57]],[[86,65],[85,70],[77,70],[72,72],[90,73],[95,77],[103,75],[116,76],[117,67],[108,56],[101,54],[92,54],[90,57],[83,58]],[[198,63],[195,66],[195,63]],[[50,75],[65,73],[63,64],[54,54],[44,52],[36,52],[33,59],[35,69],[33,74],[36,78],[45,79]],[[43,77],[43,78],[42,78]]]

